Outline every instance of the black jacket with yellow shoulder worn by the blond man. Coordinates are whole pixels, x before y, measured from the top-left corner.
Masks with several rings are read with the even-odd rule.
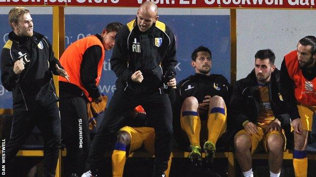
[[[14,63],[25,53],[29,62],[16,75]],[[3,86],[12,91],[13,109],[32,110],[58,101],[52,73],[58,75],[56,64],[62,67],[54,56],[51,43],[42,34],[34,32],[31,37],[20,37],[10,32],[2,49],[0,64]]]

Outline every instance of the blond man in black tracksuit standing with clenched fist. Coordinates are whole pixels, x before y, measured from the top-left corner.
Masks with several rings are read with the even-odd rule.
[[[26,8],[9,12],[13,29],[1,53],[1,80],[12,91],[14,118],[6,145],[6,176],[14,170],[10,164],[34,126],[42,132],[44,176],[55,176],[60,146],[60,117],[53,76],[68,78],[54,57],[52,45],[42,34],[33,32],[33,21]]]

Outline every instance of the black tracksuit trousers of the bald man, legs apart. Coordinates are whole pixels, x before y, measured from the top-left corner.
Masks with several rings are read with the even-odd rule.
[[[155,160],[153,176],[162,176],[168,167],[168,160],[172,151],[172,109],[168,94],[155,92],[152,94],[135,95],[131,91],[117,88],[113,94],[104,119],[94,137],[86,170],[96,174],[105,151],[111,150],[111,142],[116,139],[120,123],[124,116],[137,105],[142,105],[146,116],[152,119],[155,129]]]

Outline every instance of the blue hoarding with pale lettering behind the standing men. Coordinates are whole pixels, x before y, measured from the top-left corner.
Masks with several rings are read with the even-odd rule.
[[[52,15],[32,15],[34,31],[44,34],[52,42]],[[65,15],[65,47],[77,39],[100,33],[110,22],[128,23],[135,15]],[[228,15],[161,15],[176,36],[178,65],[177,81],[194,74],[191,67],[191,53],[200,46],[212,51],[211,73],[222,74],[230,80],[230,30]],[[0,15],[0,46],[8,40],[11,28],[8,15]],[[100,92],[111,98],[115,90],[115,74],[110,69],[111,51],[106,51],[103,73],[99,85]],[[12,94],[0,82],[0,108],[12,108]]]

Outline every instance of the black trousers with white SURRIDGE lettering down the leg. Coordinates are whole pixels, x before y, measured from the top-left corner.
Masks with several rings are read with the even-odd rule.
[[[62,143],[67,149],[65,176],[81,175],[90,149],[87,101],[83,97],[60,98]]]

